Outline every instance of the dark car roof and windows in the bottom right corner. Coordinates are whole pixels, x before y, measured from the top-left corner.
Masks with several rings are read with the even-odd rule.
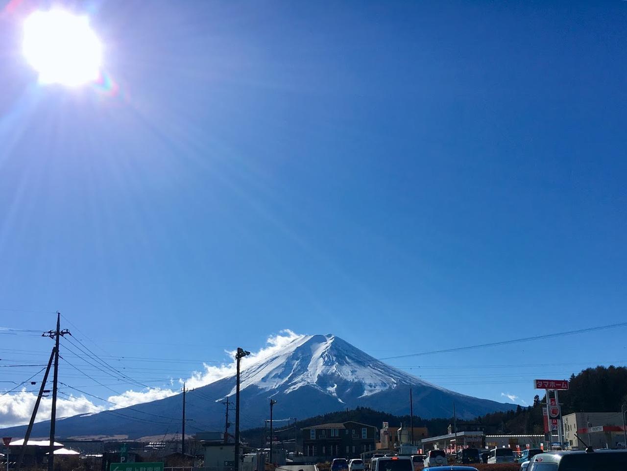
[[[528,471],[624,471],[627,450],[544,452],[531,458]]]

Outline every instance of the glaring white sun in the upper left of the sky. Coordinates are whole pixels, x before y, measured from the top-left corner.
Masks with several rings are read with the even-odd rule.
[[[41,83],[77,86],[100,73],[102,44],[87,16],[59,9],[31,13],[24,21],[23,52]]]

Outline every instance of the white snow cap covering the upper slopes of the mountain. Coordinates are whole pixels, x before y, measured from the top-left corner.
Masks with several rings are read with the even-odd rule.
[[[301,336],[277,355],[247,366],[241,373],[240,387],[246,390],[256,386],[263,391],[272,390],[275,394],[289,394],[303,386],[312,386],[343,402],[342,396],[349,390],[351,395],[359,390],[357,398],[365,398],[399,385],[422,385],[443,390],[386,365],[341,338],[328,334]],[[233,388],[229,395],[234,393]]]

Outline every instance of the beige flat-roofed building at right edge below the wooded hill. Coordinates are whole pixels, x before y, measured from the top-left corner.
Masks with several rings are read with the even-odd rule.
[[[575,450],[624,448],[623,418],[620,412],[575,412],[562,417],[564,441]],[[579,440],[575,434],[581,437]]]

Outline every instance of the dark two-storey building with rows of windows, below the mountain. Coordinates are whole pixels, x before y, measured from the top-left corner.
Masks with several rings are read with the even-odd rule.
[[[376,449],[377,428],[352,420],[305,427],[302,432],[303,454],[308,457],[359,458]]]

